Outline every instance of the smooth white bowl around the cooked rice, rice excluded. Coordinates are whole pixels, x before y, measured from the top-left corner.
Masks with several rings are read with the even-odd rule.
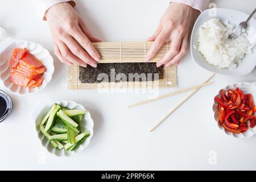
[[[217,16],[212,16],[214,11],[216,11]],[[221,75],[242,76],[247,75],[248,73],[253,71],[256,66],[256,47],[254,47],[253,49],[253,54],[246,54],[245,57],[243,57],[242,63],[238,64],[238,67],[236,69],[218,69],[217,67],[214,67],[213,65],[210,65],[209,63],[207,63],[207,61],[205,61],[205,58],[198,51],[197,43],[199,27],[207,20],[212,18],[219,18],[222,22],[229,20],[230,23],[239,24],[240,22],[245,21],[248,16],[249,15],[247,15],[246,13],[242,13],[241,11],[230,9],[217,8],[205,10],[196,20],[191,35],[191,55],[195,63],[210,72],[218,73]],[[248,31],[249,33],[251,32],[251,39],[255,40],[256,20],[254,18],[251,18],[248,23],[247,30],[249,29],[251,30]],[[254,32],[252,30],[254,30]]]

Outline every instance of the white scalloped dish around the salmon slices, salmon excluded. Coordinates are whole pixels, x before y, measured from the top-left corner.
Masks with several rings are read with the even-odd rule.
[[[44,81],[41,86],[37,88],[28,88],[25,86],[14,85],[10,81],[10,57],[13,49],[16,47],[26,47],[32,55],[36,56],[43,62],[44,66],[46,67],[46,72],[44,72]],[[43,48],[39,44],[27,41],[15,41],[14,39],[6,38],[3,40],[3,42],[0,43],[0,60],[0,80],[3,82],[3,85],[5,85],[5,87],[10,90],[11,93],[19,95],[36,93],[39,90],[43,90],[48,82],[50,82],[52,79],[52,74],[54,72],[52,56],[49,54],[47,49]]]

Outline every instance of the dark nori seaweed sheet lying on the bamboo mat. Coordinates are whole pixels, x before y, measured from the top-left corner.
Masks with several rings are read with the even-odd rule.
[[[97,68],[80,67],[79,80],[82,83],[155,81],[163,79],[163,67],[155,63],[105,63]]]

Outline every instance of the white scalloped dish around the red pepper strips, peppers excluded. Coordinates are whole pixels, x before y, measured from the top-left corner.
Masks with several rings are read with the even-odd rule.
[[[235,83],[232,85],[228,85],[226,86],[226,88],[224,88],[224,90],[228,90],[228,89],[236,89],[236,88],[240,88],[245,94],[247,93],[251,93],[253,95],[254,98],[254,103],[256,103],[256,82],[240,82],[240,83]],[[217,96],[220,96],[220,93],[218,93]],[[235,133],[231,133],[230,131],[227,131],[224,129],[224,127],[222,127],[220,125],[220,123],[218,122],[218,103],[214,100],[214,104],[213,104],[213,111],[214,111],[214,118],[217,122],[218,127],[225,131],[225,133],[229,136],[235,137],[235,138],[249,138],[251,136],[253,136],[256,133],[256,126],[252,129],[250,127],[248,127],[248,130],[245,131],[244,133],[241,134],[235,134]],[[247,124],[249,125],[249,121],[247,122]]]

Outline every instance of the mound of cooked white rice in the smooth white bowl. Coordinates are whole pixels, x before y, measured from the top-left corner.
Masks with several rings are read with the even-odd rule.
[[[245,32],[235,40],[228,38],[233,28],[233,24],[227,22],[224,25],[216,18],[209,19],[200,26],[198,50],[209,64],[220,69],[234,69],[245,54],[251,52]]]

